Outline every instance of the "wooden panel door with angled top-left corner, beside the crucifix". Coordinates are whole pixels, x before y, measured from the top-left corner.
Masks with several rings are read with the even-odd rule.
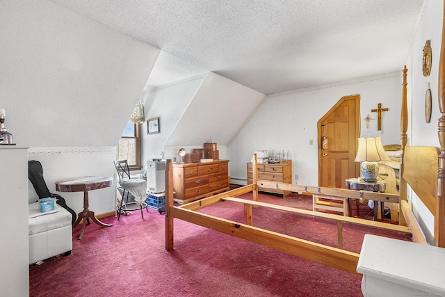
[[[355,163],[360,135],[360,95],[343,97],[318,121],[318,185],[346,188],[359,177]]]

